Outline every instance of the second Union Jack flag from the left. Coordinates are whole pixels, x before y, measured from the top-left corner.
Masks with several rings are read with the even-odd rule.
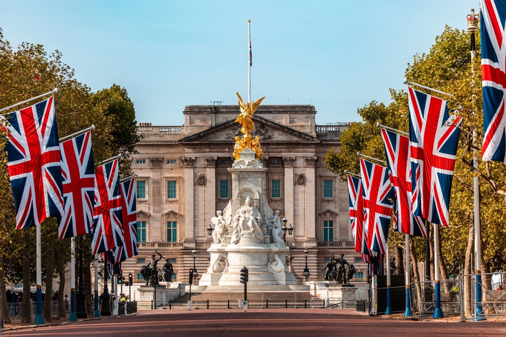
[[[95,206],[92,133],[60,143],[65,214],[59,217],[59,239],[90,232]]]

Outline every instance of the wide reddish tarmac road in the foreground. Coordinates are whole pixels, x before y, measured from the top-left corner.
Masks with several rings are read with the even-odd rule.
[[[353,309],[152,310],[5,336],[506,336],[506,322],[437,322],[360,315]]]

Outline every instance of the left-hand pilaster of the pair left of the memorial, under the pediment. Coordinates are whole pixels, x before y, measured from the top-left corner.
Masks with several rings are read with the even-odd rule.
[[[184,198],[184,210],[185,210],[185,233],[183,243],[185,247],[195,247],[195,236],[194,236],[194,212],[193,212],[193,165],[195,163],[194,157],[183,157],[183,164],[185,166],[185,182],[184,182],[184,194],[181,198]],[[179,198],[179,196],[178,196]]]

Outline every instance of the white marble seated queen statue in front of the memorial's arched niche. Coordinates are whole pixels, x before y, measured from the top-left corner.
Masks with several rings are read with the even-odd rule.
[[[251,198],[247,197],[244,205],[242,205],[235,213],[232,219],[232,239],[231,244],[238,244],[241,236],[251,233],[258,239],[258,243],[263,242],[264,235],[260,224],[262,223],[262,216],[258,209],[251,205]]]

